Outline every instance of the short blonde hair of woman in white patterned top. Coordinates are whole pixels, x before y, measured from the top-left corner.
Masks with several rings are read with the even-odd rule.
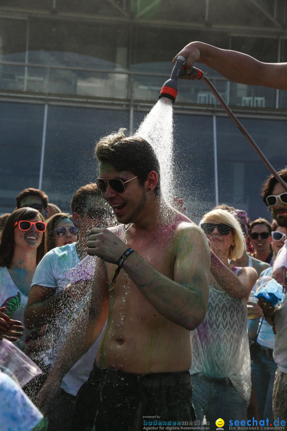
[[[239,259],[246,250],[246,243],[241,230],[241,226],[239,222],[235,219],[234,215],[223,209],[213,209],[213,211],[204,214],[203,219],[201,220],[199,225],[201,226],[202,223],[208,223],[210,219],[218,223],[225,223],[226,225],[232,226],[234,246],[230,247],[229,259]]]

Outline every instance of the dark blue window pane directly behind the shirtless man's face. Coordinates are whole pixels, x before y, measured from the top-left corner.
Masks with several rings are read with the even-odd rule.
[[[125,111],[49,106],[43,190],[50,202],[68,211],[75,191],[97,178],[96,142],[127,125]]]

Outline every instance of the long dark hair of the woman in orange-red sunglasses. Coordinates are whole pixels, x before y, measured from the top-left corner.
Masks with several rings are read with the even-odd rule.
[[[34,208],[19,208],[15,209],[13,211],[4,226],[2,237],[1,237],[1,243],[0,243],[0,266],[6,266],[7,268],[10,268],[13,254],[14,254],[14,225],[16,222],[19,222],[20,220],[32,220],[37,215],[40,217],[40,220],[42,222],[45,222],[45,219],[43,218],[43,215],[40,214],[37,209]],[[46,232],[43,232],[42,241],[37,248],[37,257],[36,262],[37,264],[40,262],[44,254],[46,253]]]

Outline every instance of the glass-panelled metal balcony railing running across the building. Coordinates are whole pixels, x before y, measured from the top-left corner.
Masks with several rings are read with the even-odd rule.
[[[76,97],[89,100],[155,102],[166,73],[132,70],[106,70],[85,67],[31,64],[0,61],[1,94],[22,94],[30,97]],[[208,75],[226,103],[231,106],[260,110],[287,109],[284,91],[235,84],[219,76]],[[179,82],[177,103],[216,106],[217,100],[201,81]]]

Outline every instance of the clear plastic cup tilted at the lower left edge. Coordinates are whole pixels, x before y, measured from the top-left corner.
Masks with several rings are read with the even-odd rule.
[[[42,373],[40,368],[25,353],[5,338],[0,345],[0,367],[21,387]]]

